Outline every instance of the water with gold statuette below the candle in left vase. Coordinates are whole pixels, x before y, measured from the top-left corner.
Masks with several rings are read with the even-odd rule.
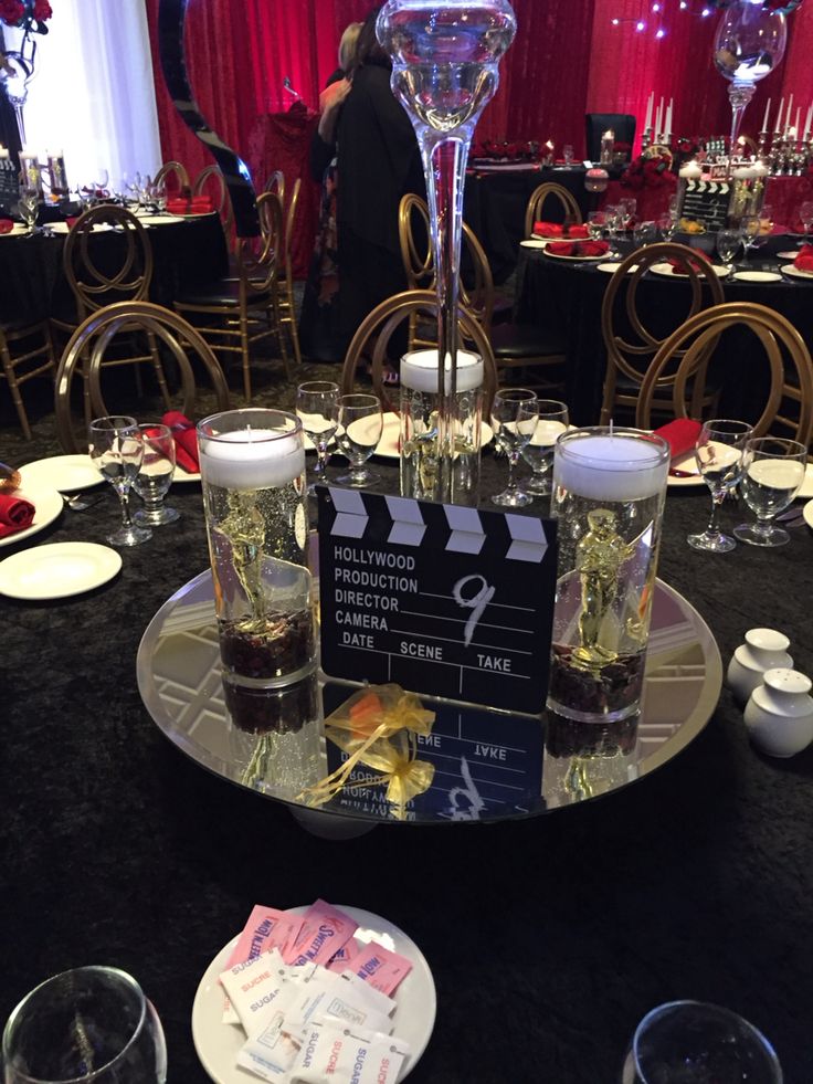
[[[234,681],[306,674],[316,642],[302,478],[263,490],[203,484],[221,657]]]

